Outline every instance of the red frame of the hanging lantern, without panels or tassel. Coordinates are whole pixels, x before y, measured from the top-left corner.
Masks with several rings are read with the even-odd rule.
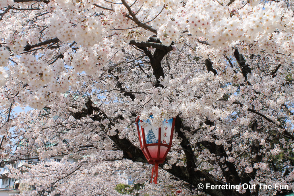
[[[145,155],[149,164],[153,164],[153,165],[160,164],[160,163],[163,163],[164,160],[166,159],[166,155],[168,154],[169,150],[171,149],[171,142],[173,140],[173,130],[175,127],[175,122],[176,122],[176,118],[172,118],[172,119],[173,119],[173,122],[172,122],[172,126],[171,126],[171,135],[169,138],[169,143],[168,144],[161,143],[161,127],[158,127],[158,142],[147,144],[146,138],[145,138],[145,130],[142,125],[139,125],[139,121],[140,122],[143,122],[143,121],[140,120],[140,116],[138,115],[135,122],[137,125],[140,147],[141,147],[141,150],[142,150],[143,154]],[[141,133],[140,133],[139,126],[141,126]],[[142,138],[141,138],[141,134],[142,134]],[[148,146],[158,146],[157,147],[157,156],[155,158],[151,156],[151,153],[149,152]],[[161,147],[167,147],[166,152],[163,154],[162,157],[160,156]]]

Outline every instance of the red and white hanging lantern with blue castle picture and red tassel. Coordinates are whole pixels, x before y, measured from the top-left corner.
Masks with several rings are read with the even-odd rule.
[[[153,119],[153,115],[150,115],[150,118]],[[164,162],[166,155],[171,148],[175,121],[176,118],[171,118],[169,120],[164,119],[161,127],[154,127],[148,119],[147,121],[144,121],[144,124],[147,123],[147,125],[144,125],[143,127],[140,116],[136,119],[141,150],[148,163],[154,165],[151,172],[151,183],[153,172],[155,174],[153,182],[155,182],[155,184],[157,183],[158,164]]]

